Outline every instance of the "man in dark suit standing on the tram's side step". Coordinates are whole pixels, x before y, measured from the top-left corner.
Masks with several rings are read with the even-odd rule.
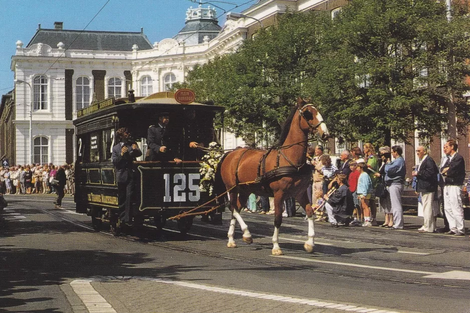
[[[113,147],[112,161],[116,168],[116,182],[118,185],[118,203],[121,212],[121,222],[129,223],[132,194],[134,192],[134,169],[132,162],[142,155],[134,141],[130,141],[127,128],[120,128],[116,132],[119,143]]]

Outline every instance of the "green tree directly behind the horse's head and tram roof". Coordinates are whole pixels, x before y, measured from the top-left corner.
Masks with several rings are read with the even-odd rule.
[[[286,13],[237,52],[195,67],[176,87],[193,89],[198,101],[225,106],[228,129],[248,143],[271,144],[291,105],[304,95],[303,80],[315,74],[308,62],[318,58],[325,22],[326,15],[317,12]]]

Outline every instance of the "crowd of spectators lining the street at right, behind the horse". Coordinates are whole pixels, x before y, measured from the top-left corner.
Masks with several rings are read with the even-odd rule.
[[[416,148],[418,164],[413,167],[411,175],[424,217],[419,232],[439,231],[456,236],[465,233],[461,201],[465,165],[457,147],[454,140],[448,140],[443,147],[444,157],[438,164],[426,147]],[[313,177],[307,193],[315,211],[315,221],[329,222],[335,227],[403,229],[402,192],[406,183],[406,166],[402,153],[400,146],[383,146],[376,152],[372,144],[365,143],[362,149],[354,147],[350,151],[342,151],[333,165],[323,146],[309,148],[307,162],[312,166]],[[470,178],[467,185],[470,185]],[[443,195],[445,227],[438,230],[439,186]],[[377,203],[385,216],[383,223],[377,221]],[[252,194],[245,211],[274,214],[273,198]],[[299,212],[296,212],[295,200],[286,199],[283,216],[296,214]]]

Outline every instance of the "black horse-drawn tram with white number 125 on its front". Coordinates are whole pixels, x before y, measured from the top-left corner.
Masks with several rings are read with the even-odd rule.
[[[74,121],[76,211],[91,216],[95,229],[101,229],[102,222],[110,223],[115,235],[122,229],[123,205],[120,209],[118,192],[120,169],[113,163],[118,155],[113,157],[113,147],[116,149],[118,130],[123,128],[127,128],[132,146],[141,152],[139,157],[131,159],[128,168],[133,175],[130,181],[134,188],[128,199],[130,225],[132,221],[139,225],[150,221],[162,228],[168,218],[182,216],[176,218],[177,225],[181,232],[186,232],[197,214],[221,220],[223,208],[213,209],[214,204],[205,204],[211,197],[208,192],[199,190],[199,169],[204,153],[201,147],[217,142],[214,119],[223,118],[223,107],[195,103],[190,91],[175,94],[160,92],[134,98],[130,91],[129,98],[108,98],[78,111]],[[167,125],[163,123],[166,125],[163,129],[159,128],[162,116],[166,122],[169,120]],[[161,131],[158,147],[165,147],[167,159],[148,161],[154,149],[150,143],[147,145],[150,129],[154,133]],[[121,146],[118,147],[121,152]],[[181,215],[188,211],[191,213]]]

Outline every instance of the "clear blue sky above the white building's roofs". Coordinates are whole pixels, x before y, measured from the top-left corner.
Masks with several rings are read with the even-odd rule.
[[[107,0],[0,0],[0,94],[13,89],[11,58],[18,40],[24,47],[33,38],[38,24],[53,29],[54,22],[64,22],[64,29],[83,30]],[[202,0],[203,7],[216,8],[219,25],[227,12],[242,12],[257,0]],[[186,10],[197,7],[193,0],[110,0],[86,28],[88,31],[140,32],[153,44],[172,38],[184,27]],[[248,3],[248,4],[245,4]],[[245,4],[245,5],[243,5]],[[241,6],[242,5],[242,6]],[[53,47],[55,48],[55,47]]]

